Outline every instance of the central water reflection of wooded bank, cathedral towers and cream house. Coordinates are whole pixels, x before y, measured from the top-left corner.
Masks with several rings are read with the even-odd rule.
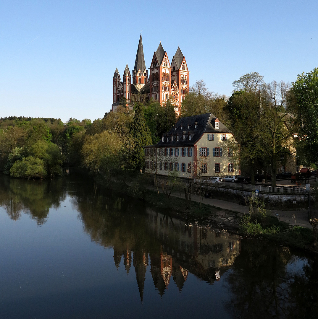
[[[171,278],[181,291],[188,271],[213,283],[215,268],[223,274],[239,254],[235,235],[188,227],[167,212],[155,212],[94,183],[76,189],[74,195],[84,231],[96,243],[113,247],[117,268],[121,262],[127,273],[134,267],[141,300],[149,265],[154,286],[163,295]]]

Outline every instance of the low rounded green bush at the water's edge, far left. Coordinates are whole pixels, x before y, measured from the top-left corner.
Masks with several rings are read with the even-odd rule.
[[[46,175],[43,160],[33,156],[15,161],[10,168],[10,176],[12,177],[44,178]]]

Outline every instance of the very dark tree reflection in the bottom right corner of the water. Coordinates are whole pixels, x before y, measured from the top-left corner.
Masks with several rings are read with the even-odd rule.
[[[301,274],[286,266],[302,261]],[[286,247],[243,241],[227,282],[233,297],[226,309],[234,318],[316,318],[317,269]]]

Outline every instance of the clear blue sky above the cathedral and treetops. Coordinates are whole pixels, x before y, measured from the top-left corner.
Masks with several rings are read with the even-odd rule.
[[[0,117],[92,120],[112,104],[112,77],[133,69],[143,30],[149,68],[159,41],[178,45],[190,85],[230,95],[257,71],[295,81],[318,66],[318,1],[0,2]]]

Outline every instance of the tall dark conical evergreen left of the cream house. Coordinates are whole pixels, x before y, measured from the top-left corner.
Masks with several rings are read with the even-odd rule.
[[[130,165],[133,168],[140,169],[144,166],[145,160],[143,146],[152,145],[152,139],[149,127],[146,124],[143,105],[139,102],[137,102],[135,107],[134,121],[130,132],[135,143]]]

